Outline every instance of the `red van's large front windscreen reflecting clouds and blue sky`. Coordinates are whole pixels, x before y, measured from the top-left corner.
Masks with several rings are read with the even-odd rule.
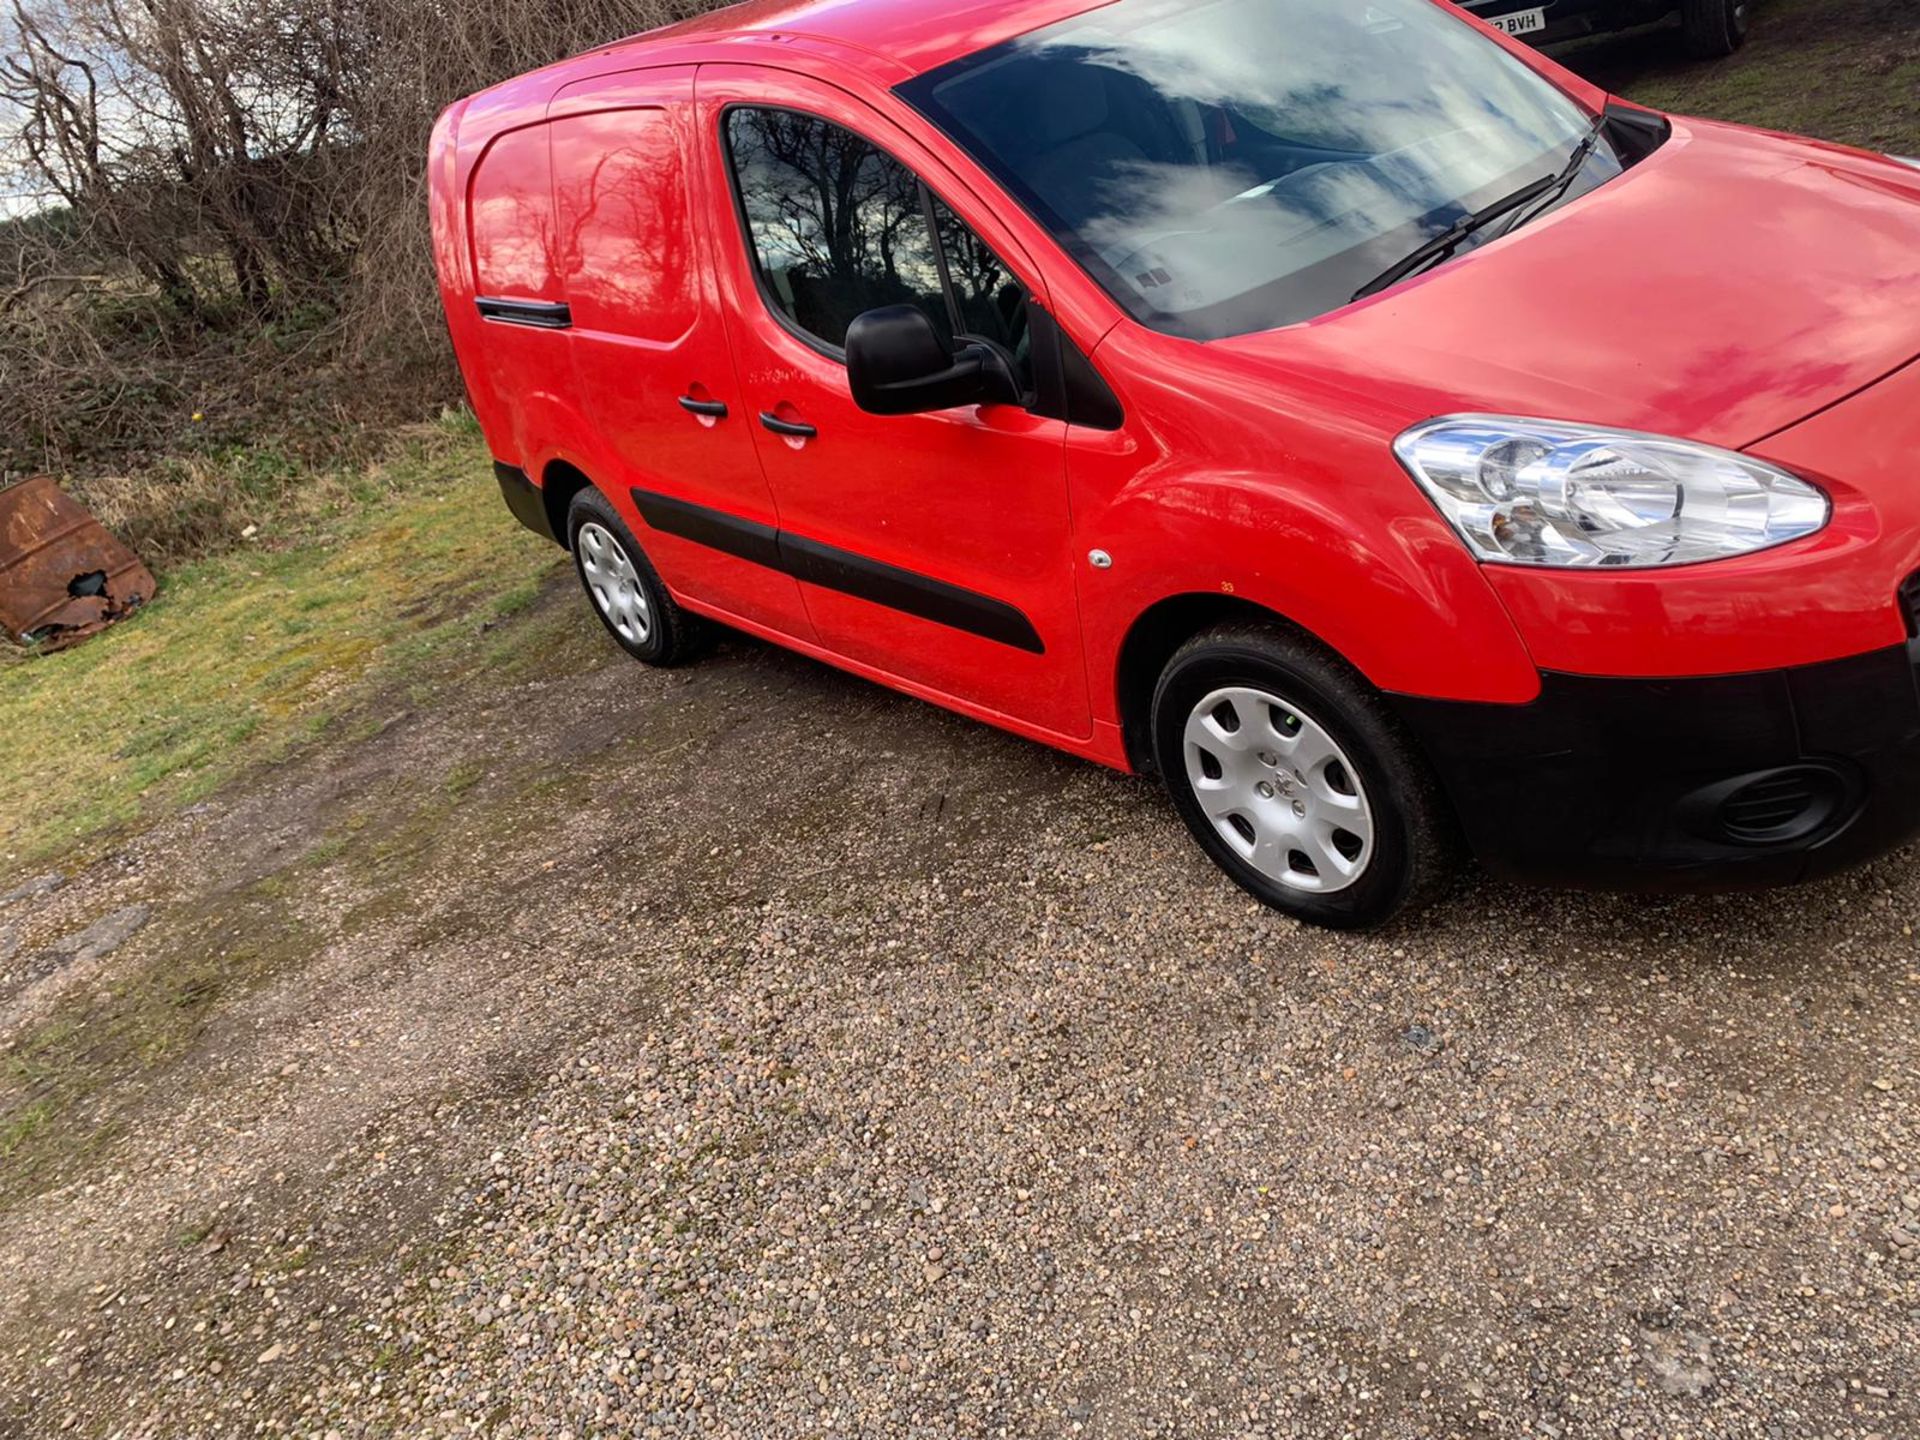
[[[1592,127],[1432,0],[1117,0],[900,94],[1135,319],[1198,340],[1338,309]],[[1567,198],[1619,173],[1601,142]]]

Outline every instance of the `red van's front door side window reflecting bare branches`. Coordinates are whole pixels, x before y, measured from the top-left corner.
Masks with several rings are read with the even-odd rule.
[[[864,311],[918,305],[945,340],[995,340],[1025,369],[1025,290],[900,161],[791,109],[732,109],[726,136],[755,265],[795,328],[837,351]]]

